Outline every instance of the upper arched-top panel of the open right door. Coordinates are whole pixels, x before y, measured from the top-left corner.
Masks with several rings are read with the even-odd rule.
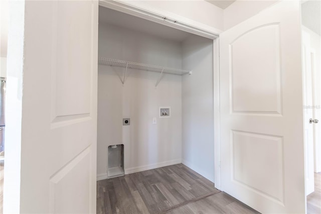
[[[248,59],[253,63],[244,63]],[[230,62],[232,113],[281,114],[279,24],[259,26],[235,39]]]

